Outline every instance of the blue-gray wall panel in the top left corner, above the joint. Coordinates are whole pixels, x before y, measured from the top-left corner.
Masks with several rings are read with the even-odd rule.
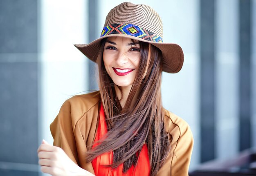
[[[0,53],[37,52],[37,0],[0,0]]]

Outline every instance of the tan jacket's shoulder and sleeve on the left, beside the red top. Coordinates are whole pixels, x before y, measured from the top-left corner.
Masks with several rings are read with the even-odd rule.
[[[78,149],[85,151],[85,146],[92,144],[97,127],[99,101],[98,91],[72,96],[63,103],[50,125],[54,145],[63,148],[75,163],[79,163]]]

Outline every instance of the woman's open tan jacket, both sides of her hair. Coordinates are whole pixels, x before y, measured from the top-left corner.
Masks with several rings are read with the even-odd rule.
[[[92,163],[85,163],[97,133],[99,91],[73,96],[66,100],[50,125],[54,145],[61,147],[80,167],[94,174]],[[172,136],[171,152],[157,176],[188,176],[193,149],[193,136],[182,118],[165,111],[165,126]]]

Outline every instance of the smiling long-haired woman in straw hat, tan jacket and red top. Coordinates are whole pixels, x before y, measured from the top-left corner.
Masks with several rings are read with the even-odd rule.
[[[180,46],[162,43],[162,21],[146,5],[119,4],[101,37],[75,45],[99,68],[99,91],[65,101],[51,124],[54,146],[38,148],[53,176],[186,176],[189,125],[162,107],[162,71],[182,68]]]

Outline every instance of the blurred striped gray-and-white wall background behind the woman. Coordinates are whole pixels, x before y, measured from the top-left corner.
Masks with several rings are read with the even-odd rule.
[[[0,175],[39,176],[62,103],[97,90],[95,65],[73,44],[99,38],[123,0],[0,0]],[[130,0],[159,13],[184,66],[163,73],[164,107],[193,132],[190,171],[256,147],[256,0]],[[46,175],[46,174],[45,174]]]

